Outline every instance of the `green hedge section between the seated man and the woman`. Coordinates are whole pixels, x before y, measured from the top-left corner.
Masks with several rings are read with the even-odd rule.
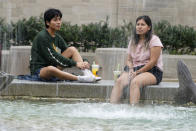
[[[63,22],[59,31],[64,40],[80,51],[95,51],[96,48],[127,47],[129,29],[132,23],[126,26],[111,28],[106,21],[87,25],[71,25]],[[128,28],[128,29],[127,29]],[[125,30],[128,30],[125,32]]]

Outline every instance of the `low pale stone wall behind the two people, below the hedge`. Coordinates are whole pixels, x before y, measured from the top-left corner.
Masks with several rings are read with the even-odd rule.
[[[89,60],[92,64],[95,61],[100,65],[99,76],[103,80],[113,80],[113,71],[120,64],[123,70],[127,49],[125,48],[97,48],[95,53],[80,52],[82,57]],[[2,50],[1,71],[13,75],[30,74],[29,58],[31,46],[11,46],[10,50]],[[196,56],[192,55],[167,55],[163,54],[163,80],[174,82],[177,80],[177,62],[184,61],[190,69],[192,77],[196,80]]]

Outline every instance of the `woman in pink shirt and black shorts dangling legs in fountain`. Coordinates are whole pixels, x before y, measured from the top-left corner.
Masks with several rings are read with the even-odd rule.
[[[128,85],[130,104],[136,104],[140,100],[141,88],[161,82],[162,48],[159,37],[153,34],[150,17],[139,16],[129,42],[127,64],[112,89],[111,103],[120,102],[123,90]]]

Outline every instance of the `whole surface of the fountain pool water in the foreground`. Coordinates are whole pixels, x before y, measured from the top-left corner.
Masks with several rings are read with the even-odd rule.
[[[195,121],[195,107],[0,100],[0,130],[5,131],[184,131],[195,130]]]

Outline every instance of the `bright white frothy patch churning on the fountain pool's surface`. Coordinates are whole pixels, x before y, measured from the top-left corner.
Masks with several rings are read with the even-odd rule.
[[[137,119],[137,120],[178,120],[186,117],[177,115],[183,110],[176,110],[171,106],[144,106],[131,107],[130,105],[112,104],[75,104],[69,117],[96,118],[96,119]],[[165,110],[168,108],[168,110]],[[88,112],[88,113],[86,113]]]

